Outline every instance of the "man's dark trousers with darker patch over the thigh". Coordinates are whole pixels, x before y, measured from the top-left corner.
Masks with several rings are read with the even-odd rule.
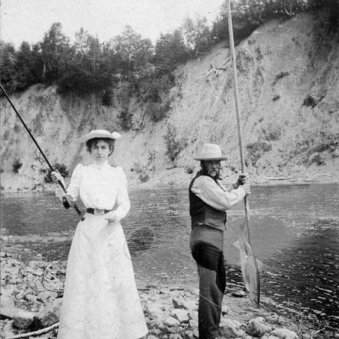
[[[191,252],[197,263],[199,275],[198,330],[199,339],[214,339],[218,335],[222,297],[226,287],[225,261],[222,253],[223,234],[220,232],[220,241],[216,244],[210,243],[210,240],[215,243],[213,241],[215,234],[212,234],[212,239],[206,237],[206,232],[203,234],[205,235],[203,238],[208,242],[201,239],[201,233],[198,237],[194,232],[191,234]]]

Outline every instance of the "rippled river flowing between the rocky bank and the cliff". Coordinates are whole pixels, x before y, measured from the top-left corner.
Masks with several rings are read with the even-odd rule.
[[[196,286],[196,266],[189,252],[187,191],[133,190],[130,198],[131,211],[122,224],[137,280]],[[263,262],[262,294],[271,304],[297,309],[312,321],[337,327],[339,185],[254,186],[249,206],[251,245]],[[228,213],[228,285],[241,286],[232,227],[243,218],[243,210],[239,203]],[[52,193],[1,195],[1,233],[16,236],[18,244],[46,260],[66,260],[77,221],[74,210],[64,210]],[[64,240],[58,240],[59,235]],[[52,240],[40,242],[36,236]]]

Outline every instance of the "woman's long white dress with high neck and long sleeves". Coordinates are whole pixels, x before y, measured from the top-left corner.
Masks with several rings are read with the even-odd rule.
[[[121,167],[78,165],[68,189],[86,208],[129,212]],[[85,214],[78,223],[67,262],[58,339],[136,339],[148,333],[120,222]]]

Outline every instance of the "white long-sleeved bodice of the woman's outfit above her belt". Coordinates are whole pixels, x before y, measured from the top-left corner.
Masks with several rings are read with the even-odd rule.
[[[78,164],[73,171],[67,193],[76,201],[80,196],[85,208],[112,210],[121,220],[131,207],[124,169],[104,164]]]

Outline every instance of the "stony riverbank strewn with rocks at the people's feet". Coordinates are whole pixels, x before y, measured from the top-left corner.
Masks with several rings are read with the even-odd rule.
[[[24,261],[15,246],[1,251],[1,339],[56,338],[66,262],[42,260],[37,254]],[[198,338],[198,290],[182,286],[137,282],[149,329],[149,339]],[[316,338],[316,331],[300,323],[252,307],[246,294],[227,290],[220,332],[225,338]]]

